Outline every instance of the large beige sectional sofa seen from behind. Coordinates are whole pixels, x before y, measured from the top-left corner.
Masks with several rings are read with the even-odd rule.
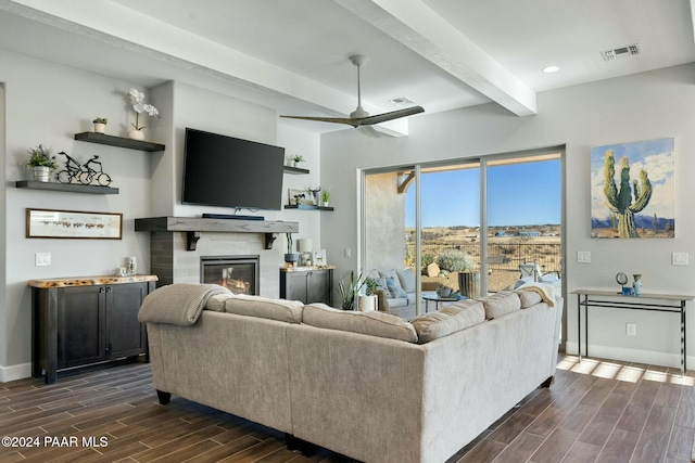
[[[283,432],[288,443],[415,463],[446,461],[549,385],[561,311],[543,285],[410,323],[175,284],[149,295],[139,319],[163,403],[174,394]]]

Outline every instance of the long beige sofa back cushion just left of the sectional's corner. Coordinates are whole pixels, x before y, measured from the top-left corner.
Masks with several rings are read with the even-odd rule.
[[[328,330],[417,343],[417,333],[413,325],[391,313],[339,310],[315,303],[304,306],[302,321],[304,324]]]

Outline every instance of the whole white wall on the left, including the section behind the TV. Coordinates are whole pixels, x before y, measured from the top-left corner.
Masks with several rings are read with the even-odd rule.
[[[31,279],[112,274],[126,256],[136,256],[141,272],[149,270],[149,233],[136,233],[135,218],[186,215],[202,210],[180,204],[184,129],[195,127],[248,140],[286,146],[301,153],[312,169],[308,176],[285,176],[287,188],[319,184],[319,138],[291,127],[278,127],[275,111],[252,102],[207,90],[167,82],[151,91],[132,82],[55,65],[0,50],[0,382],[30,375]],[[146,101],[162,117],[147,117],[146,138],[166,145],[162,153],[144,153],[114,146],[77,142],[74,134],[92,130],[91,120],[109,118],[108,134],[125,136],[134,121],[127,93],[131,87],[144,91]],[[3,110],[4,95],[4,110]],[[7,118],[3,118],[7,115]],[[0,132],[2,133],[2,132]],[[29,179],[24,168],[26,150],[42,143],[55,152],[65,151],[79,162],[100,156],[104,171],[113,179],[117,195],[77,194],[16,189],[17,180]],[[59,164],[63,165],[61,160]],[[292,177],[292,178],[290,178]],[[287,202],[287,193],[283,201]],[[25,237],[25,209],[49,208],[123,213],[123,240],[38,240]],[[228,213],[228,210],[205,211]],[[300,222],[298,237],[312,237],[320,245],[318,213],[295,210],[263,214],[269,220]],[[282,266],[285,240],[274,250]],[[51,253],[50,267],[35,267],[36,253]],[[5,272],[7,269],[7,272]],[[279,270],[277,279],[279,281]],[[277,281],[274,285],[277,291]]]

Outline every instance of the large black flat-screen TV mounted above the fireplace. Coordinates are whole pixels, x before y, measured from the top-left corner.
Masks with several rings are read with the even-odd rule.
[[[285,149],[186,129],[184,204],[279,210]]]

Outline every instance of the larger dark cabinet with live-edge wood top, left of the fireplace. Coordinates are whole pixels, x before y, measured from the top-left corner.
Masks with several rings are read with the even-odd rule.
[[[138,275],[29,282],[33,375],[45,374],[51,384],[60,370],[147,353],[138,311],[155,281]]]

